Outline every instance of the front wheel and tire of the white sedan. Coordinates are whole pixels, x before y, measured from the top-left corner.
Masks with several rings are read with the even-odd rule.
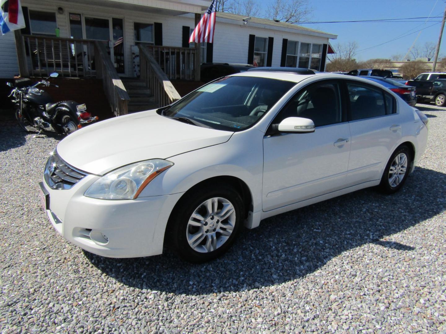
[[[203,263],[221,256],[234,242],[244,204],[233,187],[220,182],[206,183],[188,195],[170,215],[165,241],[183,260]]]

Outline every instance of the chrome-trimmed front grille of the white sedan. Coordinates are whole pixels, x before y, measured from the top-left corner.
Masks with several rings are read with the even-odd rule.
[[[45,181],[53,189],[70,189],[87,173],[78,171],[54,152],[45,166]]]

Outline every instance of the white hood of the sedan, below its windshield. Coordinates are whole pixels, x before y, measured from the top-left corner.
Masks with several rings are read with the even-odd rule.
[[[225,143],[232,134],[178,122],[149,110],[86,126],[63,139],[57,152],[71,166],[103,175],[129,163],[167,159]]]

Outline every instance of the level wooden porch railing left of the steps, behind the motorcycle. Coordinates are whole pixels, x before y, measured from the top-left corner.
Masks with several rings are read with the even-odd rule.
[[[62,77],[95,76],[95,41],[34,35],[22,37],[23,54],[21,60],[19,56],[19,62],[25,62],[30,75],[58,72]]]

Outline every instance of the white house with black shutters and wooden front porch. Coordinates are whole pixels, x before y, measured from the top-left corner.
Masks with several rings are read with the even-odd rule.
[[[273,20],[218,12],[214,43],[190,45],[191,30],[210,3],[21,0],[26,28],[0,36],[0,78],[54,71],[62,77],[97,77],[120,114],[116,110],[126,108],[116,105],[129,99],[120,79],[139,74],[138,53],[141,78],[152,92],[158,91],[155,81],[167,92],[155,96],[159,104],[178,98],[162,72],[168,79],[197,80],[203,62],[325,69],[329,40],[336,35]]]

